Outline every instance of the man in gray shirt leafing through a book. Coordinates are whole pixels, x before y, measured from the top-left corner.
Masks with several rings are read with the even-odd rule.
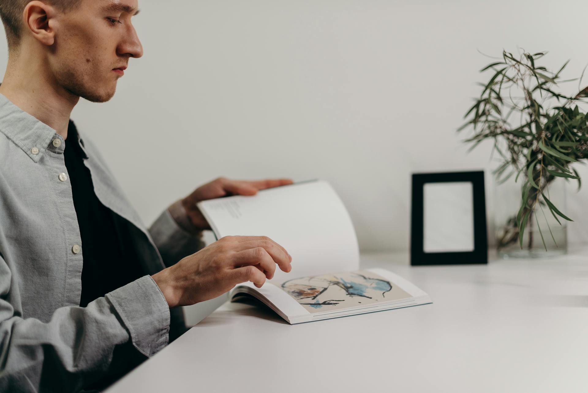
[[[266,237],[225,237],[196,202],[289,179],[219,178],[146,229],[69,119],[108,101],[142,46],[136,0],[0,0],[0,391],[102,388],[168,344],[178,306],[261,287],[292,258]],[[138,137],[140,137],[138,135]],[[177,263],[176,263],[177,262]],[[166,267],[167,266],[167,267]],[[203,361],[205,361],[203,359]]]

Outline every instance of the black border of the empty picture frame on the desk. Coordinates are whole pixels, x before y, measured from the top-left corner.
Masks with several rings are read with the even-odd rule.
[[[473,192],[474,249],[465,252],[425,252],[424,187],[427,183],[471,182]],[[487,264],[488,242],[486,229],[486,196],[484,172],[440,172],[412,175],[412,208],[410,228],[410,264],[463,265]]]

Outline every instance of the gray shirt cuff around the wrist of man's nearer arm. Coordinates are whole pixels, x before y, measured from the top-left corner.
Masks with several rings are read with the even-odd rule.
[[[151,357],[168,345],[169,306],[158,285],[146,275],[106,294],[131,335],[135,348]]]

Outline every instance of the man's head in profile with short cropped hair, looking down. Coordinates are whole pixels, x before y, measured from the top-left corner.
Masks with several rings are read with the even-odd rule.
[[[137,0],[0,0],[9,56],[36,61],[56,88],[88,101],[112,98],[129,57],[143,48],[131,24]]]

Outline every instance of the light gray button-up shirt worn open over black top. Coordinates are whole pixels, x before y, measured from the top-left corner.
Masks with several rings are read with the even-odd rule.
[[[83,244],[67,142],[0,94],[1,392],[79,391],[126,352],[165,347],[181,311],[170,312],[151,274],[203,247],[167,210],[146,229],[95,146],[78,139],[96,196],[126,220],[149,275],[79,307]]]

